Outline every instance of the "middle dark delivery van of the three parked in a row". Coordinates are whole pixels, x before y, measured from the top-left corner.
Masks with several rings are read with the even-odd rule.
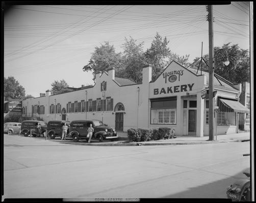
[[[50,137],[50,139],[55,139],[56,137],[60,137],[62,136],[62,126],[64,125],[64,123],[67,123],[67,126],[69,127],[70,125],[70,121],[63,121],[63,120],[53,120],[53,121],[49,121],[47,123],[47,129],[48,129],[48,136]],[[69,133],[69,128],[67,130],[67,134]]]

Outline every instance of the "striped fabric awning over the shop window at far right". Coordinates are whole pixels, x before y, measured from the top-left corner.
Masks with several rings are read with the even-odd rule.
[[[239,101],[220,98],[219,110],[223,112],[250,113],[250,110],[243,106]]]

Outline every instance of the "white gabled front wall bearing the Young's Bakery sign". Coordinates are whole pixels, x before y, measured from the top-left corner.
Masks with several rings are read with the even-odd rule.
[[[173,74],[174,71],[180,71],[180,74]],[[170,75],[176,75],[176,81],[170,82],[168,80],[168,73]],[[181,74],[182,73],[182,74]],[[164,76],[167,76],[164,78]],[[180,80],[179,80],[180,79]],[[187,85],[186,89],[182,89],[182,85]],[[174,92],[174,87],[177,87],[177,92]],[[192,88],[190,87],[192,86]],[[183,111],[183,99],[181,96],[186,96],[187,93],[189,95],[197,95],[197,98],[200,97],[200,91],[204,89],[206,86],[206,76],[196,76],[189,70],[185,69],[182,65],[176,63],[175,61],[172,61],[165,69],[165,71],[159,76],[159,78],[153,82],[149,83],[149,98],[161,98],[161,97],[170,97],[170,96],[176,96],[177,97],[177,112],[176,112],[176,125],[161,125],[162,127],[170,127],[175,129],[175,133],[178,135],[186,135],[188,134],[187,128],[188,125],[185,126],[186,123],[183,122],[184,118],[184,111]],[[168,92],[168,88],[172,89],[172,92]],[[165,92],[161,89],[164,88]],[[156,92],[154,93],[154,89],[158,89],[158,94]],[[186,91],[185,91],[186,90]],[[189,100],[190,98],[186,98]],[[200,126],[203,123],[203,117],[201,116],[200,112],[203,112],[203,100],[200,103],[197,104],[197,136],[201,137],[203,136],[203,129]],[[187,115],[185,113],[185,115]],[[187,115],[188,116],[188,115]],[[188,123],[187,123],[188,124]],[[151,124],[150,127],[158,127],[159,125]]]

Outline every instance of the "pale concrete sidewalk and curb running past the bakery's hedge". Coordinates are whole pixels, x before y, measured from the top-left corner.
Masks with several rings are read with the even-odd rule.
[[[168,140],[155,140],[147,142],[129,142],[127,132],[117,132],[119,140],[114,142],[91,143],[90,145],[104,146],[137,146],[137,145],[193,145],[193,144],[216,144],[227,142],[245,142],[250,141],[250,132],[241,132],[235,134],[222,134],[214,136],[214,141],[208,141],[209,136],[189,137],[177,136]]]

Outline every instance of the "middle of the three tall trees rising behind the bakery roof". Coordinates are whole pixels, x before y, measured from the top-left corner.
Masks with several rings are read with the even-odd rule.
[[[136,83],[142,82],[142,66],[145,65],[143,44],[142,42],[137,45],[136,40],[132,37],[130,37],[130,41],[125,38],[123,44],[124,70],[119,71],[119,75]]]

